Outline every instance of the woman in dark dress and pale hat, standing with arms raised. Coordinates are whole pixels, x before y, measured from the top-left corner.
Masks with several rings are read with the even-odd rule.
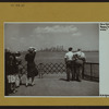
[[[27,81],[26,81],[26,86],[28,86],[28,84],[31,84],[32,86],[35,85],[34,83],[34,77],[37,75],[37,69],[36,69],[36,64],[34,62],[36,56],[36,50],[33,47],[29,47],[28,49],[28,53],[25,56],[25,60],[27,61]],[[29,83],[29,80],[31,83]]]

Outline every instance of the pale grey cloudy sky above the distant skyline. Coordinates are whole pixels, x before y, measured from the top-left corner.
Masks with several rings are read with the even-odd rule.
[[[4,48],[20,51],[28,47],[40,49],[57,46],[99,50],[99,25],[72,22],[4,24]]]

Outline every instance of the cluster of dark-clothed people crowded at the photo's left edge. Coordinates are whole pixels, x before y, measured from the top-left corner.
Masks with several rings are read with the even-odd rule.
[[[16,86],[21,84],[21,75],[22,75],[22,61],[20,60],[20,52],[12,52],[9,49],[5,49],[5,95],[9,93],[15,93]],[[17,83],[17,82],[19,83]],[[17,84],[15,84],[17,83]]]

